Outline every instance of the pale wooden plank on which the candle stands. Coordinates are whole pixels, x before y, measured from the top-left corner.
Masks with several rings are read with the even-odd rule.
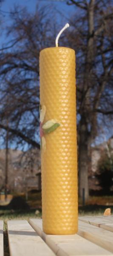
[[[47,235],[42,230],[42,220],[30,219],[29,223],[57,256],[103,256],[113,255],[108,250],[75,235]]]

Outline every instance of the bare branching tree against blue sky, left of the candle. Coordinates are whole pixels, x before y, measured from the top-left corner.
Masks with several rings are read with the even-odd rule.
[[[26,9],[14,9],[7,32],[11,40],[0,50],[0,128],[23,148],[25,142],[40,148],[39,52],[53,44],[50,26],[55,33],[47,10],[37,8],[29,14]]]

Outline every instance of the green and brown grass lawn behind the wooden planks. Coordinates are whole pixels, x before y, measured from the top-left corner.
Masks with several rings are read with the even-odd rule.
[[[25,195],[21,195],[25,199]],[[27,204],[30,209],[0,209],[0,219],[4,221],[11,219],[41,218],[41,192],[28,194]],[[79,200],[79,216],[83,215],[103,215],[106,208],[113,212],[113,196],[90,197],[85,206]]]

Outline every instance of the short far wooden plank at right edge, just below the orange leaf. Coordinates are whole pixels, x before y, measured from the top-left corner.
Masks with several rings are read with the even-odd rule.
[[[101,224],[113,224],[113,220],[111,218],[108,218],[107,216],[102,217],[80,217],[80,221],[84,221],[88,224],[94,225],[96,227],[100,227]]]

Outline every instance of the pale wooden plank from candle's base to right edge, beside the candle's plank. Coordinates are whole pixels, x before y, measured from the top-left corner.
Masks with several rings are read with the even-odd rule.
[[[113,233],[79,221],[78,234],[113,253]]]

